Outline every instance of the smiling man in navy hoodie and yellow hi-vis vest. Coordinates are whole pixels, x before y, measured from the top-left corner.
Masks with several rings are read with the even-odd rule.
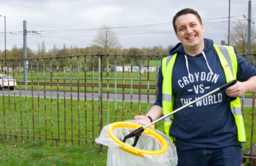
[[[179,166],[240,166],[246,140],[239,96],[256,92],[256,69],[233,47],[204,38],[195,10],[180,10],[173,28],[180,43],[162,61],[157,100],[145,116],[134,118],[150,123],[236,79],[225,91],[165,118],[164,128],[177,148]]]

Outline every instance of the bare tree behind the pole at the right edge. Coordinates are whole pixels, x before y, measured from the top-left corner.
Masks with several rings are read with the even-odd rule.
[[[228,41],[228,34],[225,34]],[[248,25],[240,20],[231,26],[229,33],[229,44],[234,46],[238,53],[246,53],[248,45]],[[256,49],[256,32],[254,27],[251,27],[251,52]]]

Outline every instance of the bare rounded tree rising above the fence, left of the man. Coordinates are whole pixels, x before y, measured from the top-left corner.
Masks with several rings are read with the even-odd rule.
[[[104,53],[114,52],[121,49],[121,44],[114,31],[110,30],[109,26],[103,25],[98,30],[97,36],[93,39],[93,44],[104,49]]]

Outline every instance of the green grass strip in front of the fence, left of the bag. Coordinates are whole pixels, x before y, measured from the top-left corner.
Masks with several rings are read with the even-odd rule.
[[[0,165],[70,165],[70,166],[103,166],[106,165],[107,148],[99,153],[97,145],[91,143],[78,145],[54,146],[44,141],[3,140],[0,137]]]

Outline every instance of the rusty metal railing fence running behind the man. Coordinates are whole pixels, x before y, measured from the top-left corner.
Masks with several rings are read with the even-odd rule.
[[[254,64],[255,64],[255,54]],[[109,64],[109,57],[112,56],[112,64]],[[122,72],[117,72],[117,57],[122,57]],[[150,109],[150,96],[157,96],[158,69],[160,59],[166,55],[78,55],[69,57],[44,57],[28,59],[7,60],[4,68],[3,60],[1,73],[12,75],[17,87],[13,91],[10,86],[2,88],[1,112],[0,112],[0,136],[9,139],[39,139],[52,140],[56,146],[64,141],[64,144],[77,141],[90,141],[94,145],[95,138],[99,135],[102,127],[115,121],[132,119],[134,115],[145,114]],[[242,55],[243,57],[247,54]],[[104,60],[103,60],[104,57]],[[146,57],[147,64],[143,66],[148,69],[142,77],[142,60]],[[130,69],[134,67],[134,59],[138,59],[138,72],[133,70],[125,71],[125,64],[129,61]],[[128,61],[127,61],[128,59]],[[23,61],[29,61],[30,66],[24,66]],[[39,61],[43,61],[43,68],[40,69]],[[150,72],[150,63],[154,62],[155,72]],[[46,63],[47,62],[47,63]],[[113,64],[114,63],[114,64]],[[76,65],[74,65],[76,64]],[[46,66],[49,66],[47,68]],[[97,71],[89,71],[97,66]],[[102,66],[114,65],[114,75],[110,76],[109,67],[103,71]],[[52,66],[55,66],[53,68]],[[75,67],[74,67],[75,66]],[[72,70],[76,68],[76,70]],[[82,70],[77,70],[82,68]],[[13,69],[13,70],[12,70]],[[28,72],[32,71],[32,72]],[[103,77],[104,75],[104,77]],[[3,85],[3,80],[2,85]],[[25,90],[25,94],[22,94]],[[4,92],[8,91],[8,95]],[[19,91],[19,96],[16,95]],[[38,93],[34,94],[34,91]],[[53,91],[57,91],[57,97],[53,97]],[[60,91],[63,96],[60,95]],[[92,93],[92,99],[87,99],[87,93]],[[31,95],[28,95],[31,93]],[[40,96],[40,94],[43,97]],[[75,99],[73,93],[77,93]],[[80,94],[85,99],[80,99]],[[96,94],[97,93],[97,94]],[[102,98],[106,93],[107,100]],[[115,99],[109,100],[109,93],[114,93]],[[122,102],[118,102],[117,93],[122,93]],[[130,98],[125,100],[125,93]],[[133,96],[138,94],[138,103],[133,102]],[[141,95],[147,95],[147,103],[141,102]],[[253,94],[253,101],[255,95]],[[119,99],[121,100],[121,99]],[[254,105],[254,103],[253,103]],[[244,97],[242,97],[242,110],[244,110]],[[251,149],[253,144],[254,107],[252,107],[252,129]],[[156,125],[156,127],[158,127]],[[163,131],[163,126],[159,125]],[[99,147],[102,151],[102,146]],[[244,156],[255,158],[252,156]]]

